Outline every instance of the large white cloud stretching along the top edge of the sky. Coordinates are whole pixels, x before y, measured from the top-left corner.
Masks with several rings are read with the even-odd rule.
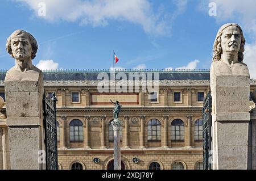
[[[55,22],[67,20],[80,22],[81,25],[107,26],[109,20],[126,20],[139,24],[151,35],[168,35],[170,33],[170,16],[164,8],[155,13],[148,0],[13,0],[26,3],[34,10],[36,16]],[[39,16],[39,3],[46,4],[46,16]],[[177,10],[172,19],[181,14],[187,6],[187,0],[174,1]]]

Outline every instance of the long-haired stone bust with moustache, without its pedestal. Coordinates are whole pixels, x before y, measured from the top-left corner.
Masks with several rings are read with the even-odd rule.
[[[215,73],[249,75],[247,65],[243,63],[244,51],[245,37],[242,28],[236,23],[220,27],[213,44],[212,68]]]

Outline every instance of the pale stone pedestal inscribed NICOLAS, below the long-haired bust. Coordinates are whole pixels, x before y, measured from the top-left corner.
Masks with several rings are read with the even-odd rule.
[[[245,64],[212,63],[213,169],[248,168],[249,82]]]

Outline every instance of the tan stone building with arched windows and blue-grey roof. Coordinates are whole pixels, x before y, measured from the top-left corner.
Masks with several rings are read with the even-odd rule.
[[[136,71],[135,71],[136,72]],[[44,89],[56,92],[59,169],[113,169],[113,104],[122,105],[122,169],[203,169],[203,100],[209,91],[208,70],[143,71],[158,74],[159,87],[143,81],[115,80],[102,92],[101,70],[46,71]],[[109,71],[103,72],[111,77]],[[128,78],[131,71],[121,73]],[[137,72],[141,75],[141,71]],[[0,73],[4,97],[5,71]],[[148,77],[147,77],[148,78]],[[124,81],[124,80],[123,80]],[[117,86],[118,82],[122,86]],[[139,83],[139,84],[137,84]],[[100,86],[99,86],[100,85]],[[133,85],[134,91],[128,90]],[[138,89],[135,86],[138,85]],[[105,86],[106,88],[106,86]],[[251,79],[251,92],[256,81]],[[106,91],[108,90],[108,91]],[[248,95],[249,96],[249,95]],[[253,107],[253,102],[250,102]],[[5,108],[0,113],[0,169],[9,169]]]

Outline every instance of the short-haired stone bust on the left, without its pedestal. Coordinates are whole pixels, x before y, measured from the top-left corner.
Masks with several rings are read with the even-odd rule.
[[[32,65],[32,59],[36,56],[38,44],[30,33],[24,30],[14,31],[7,39],[6,50],[11,57],[15,58],[15,66],[7,74],[12,73],[14,77],[22,79],[23,73],[27,73],[26,77],[28,77],[28,74],[42,72]]]

